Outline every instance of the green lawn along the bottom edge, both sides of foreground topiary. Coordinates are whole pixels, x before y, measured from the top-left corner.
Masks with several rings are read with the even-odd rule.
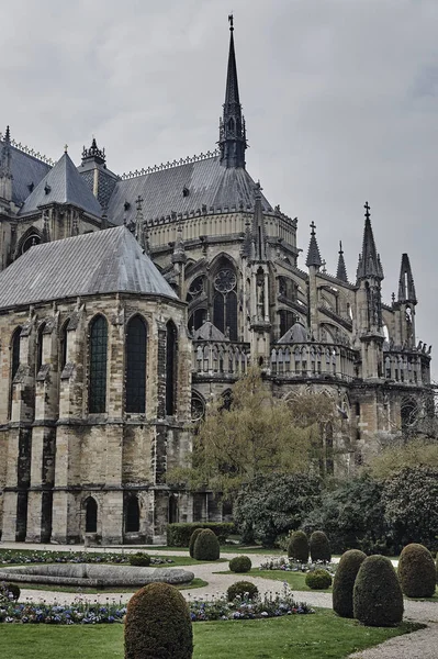
[[[362,627],[318,610],[268,621],[195,623],[193,659],[342,659],[422,628]],[[1,625],[2,659],[123,659],[123,625]]]

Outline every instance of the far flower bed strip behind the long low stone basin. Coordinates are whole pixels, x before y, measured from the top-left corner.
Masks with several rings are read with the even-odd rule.
[[[0,565],[26,563],[116,563],[130,565],[130,554],[99,554],[89,551],[25,551],[3,549],[0,551]],[[173,563],[171,558],[150,557],[151,566]]]

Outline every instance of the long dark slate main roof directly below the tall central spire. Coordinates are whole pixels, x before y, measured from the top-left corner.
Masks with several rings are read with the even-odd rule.
[[[255,181],[243,168],[225,168],[220,164],[220,156],[198,159],[175,167],[148,171],[142,176],[119,181],[111,197],[108,217],[114,224],[123,224],[124,204],[130,203],[126,211],[126,223],[135,220],[135,200],[143,198],[143,216],[155,220],[176,213],[202,211],[205,205],[215,210],[224,206],[239,209],[240,201],[245,208],[254,210]],[[188,190],[184,197],[183,190]],[[262,196],[261,204],[266,211],[272,211],[271,204]]]

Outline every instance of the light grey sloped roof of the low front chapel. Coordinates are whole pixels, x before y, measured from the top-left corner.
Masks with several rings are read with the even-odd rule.
[[[35,245],[0,272],[0,309],[116,292],[178,300],[124,226]]]

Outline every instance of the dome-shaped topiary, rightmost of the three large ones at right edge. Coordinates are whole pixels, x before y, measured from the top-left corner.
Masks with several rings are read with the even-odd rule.
[[[424,545],[406,545],[398,559],[398,579],[407,597],[431,597],[437,572],[430,551]]]

